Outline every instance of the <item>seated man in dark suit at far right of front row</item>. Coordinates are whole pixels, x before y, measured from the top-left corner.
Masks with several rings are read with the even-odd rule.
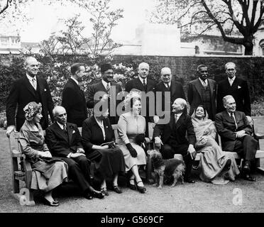
[[[222,149],[236,152],[243,157],[243,178],[255,182],[250,175],[251,162],[255,160],[258,141],[251,137],[251,128],[246,115],[236,111],[236,101],[233,96],[223,98],[225,111],[216,114],[216,129],[221,136]]]

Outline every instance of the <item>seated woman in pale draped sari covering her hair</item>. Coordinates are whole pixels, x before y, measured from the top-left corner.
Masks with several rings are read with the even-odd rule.
[[[199,105],[192,114],[192,125],[197,138],[195,149],[198,153],[202,153],[200,166],[202,172],[199,177],[204,182],[213,184],[227,184],[228,179],[235,180],[239,174],[236,160],[233,155],[223,152],[220,146],[216,143],[216,127],[214,121],[208,118],[207,111],[204,106]]]

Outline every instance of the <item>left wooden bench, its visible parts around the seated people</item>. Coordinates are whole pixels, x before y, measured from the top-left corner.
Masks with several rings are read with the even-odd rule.
[[[118,126],[112,125],[116,141],[119,138]],[[82,134],[82,128],[78,128],[79,133]],[[44,135],[45,135],[45,131]],[[11,155],[11,175],[13,190],[12,195],[18,199],[21,204],[27,206],[34,206],[33,190],[31,189],[32,169],[31,163],[28,162],[23,155],[21,144],[19,143],[19,133],[12,132],[9,137],[9,151]],[[149,163],[149,158],[148,162]],[[148,181],[151,175],[151,163],[148,164],[145,172],[145,179]],[[25,183],[25,187],[20,188],[20,181]]]

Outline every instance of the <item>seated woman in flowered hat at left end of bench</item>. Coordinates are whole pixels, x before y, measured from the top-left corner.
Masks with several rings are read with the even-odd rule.
[[[31,162],[33,170],[31,189],[43,190],[44,204],[59,206],[58,201],[53,199],[52,192],[63,181],[67,181],[67,163],[59,157],[51,157],[48,146],[45,144],[40,126],[41,104],[32,101],[23,110],[26,113],[26,121],[20,130],[19,142],[26,160]]]

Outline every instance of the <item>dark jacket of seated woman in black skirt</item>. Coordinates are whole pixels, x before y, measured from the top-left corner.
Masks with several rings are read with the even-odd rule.
[[[84,145],[85,153],[92,152],[92,145],[101,145],[102,143],[107,143],[114,141],[114,131],[112,129],[109,118],[104,118],[104,132],[101,131],[100,126],[95,120],[94,116],[87,118],[82,125],[82,142]]]

